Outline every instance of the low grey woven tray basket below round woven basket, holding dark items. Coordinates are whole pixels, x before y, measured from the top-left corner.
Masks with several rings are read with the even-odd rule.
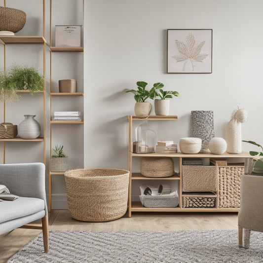
[[[179,203],[178,194],[172,196],[164,195],[139,195],[141,203],[145,207],[177,207]]]

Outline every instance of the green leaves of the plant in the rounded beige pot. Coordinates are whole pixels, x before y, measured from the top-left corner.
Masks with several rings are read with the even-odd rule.
[[[131,92],[134,94],[134,99],[136,102],[145,102],[148,98],[152,96],[152,93],[155,89],[160,89],[163,87],[163,84],[158,82],[154,83],[153,87],[149,90],[146,89],[148,85],[145,81],[138,81],[137,83],[137,90],[135,89],[124,89],[125,93]]]

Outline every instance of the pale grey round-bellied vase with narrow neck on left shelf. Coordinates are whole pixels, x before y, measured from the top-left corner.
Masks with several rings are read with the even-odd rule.
[[[24,115],[25,119],[18,124],[17,132],[21,139],[36,139],[40,135],[40,125],[34,119],[35,116]]]

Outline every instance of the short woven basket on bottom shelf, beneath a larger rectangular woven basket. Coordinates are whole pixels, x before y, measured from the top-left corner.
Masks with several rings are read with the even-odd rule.
[[[216,206],[216,197],[214,193],[192,193],[193,196],[182,196],[183,208],[212,208]]]

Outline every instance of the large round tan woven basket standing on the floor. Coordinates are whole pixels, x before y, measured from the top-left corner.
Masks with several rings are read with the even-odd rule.
[[[75,169],[65,172],[68,210],[80,221],[106,222],[125,215],[129,171]]]

